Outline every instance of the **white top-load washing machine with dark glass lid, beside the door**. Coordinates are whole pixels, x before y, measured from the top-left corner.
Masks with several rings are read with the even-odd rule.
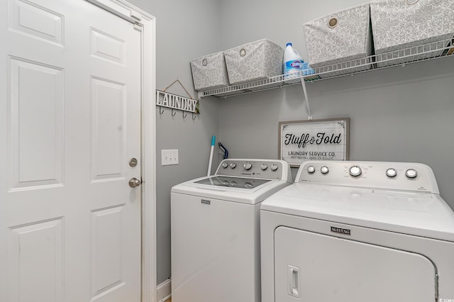
[[[260,302],[260,203],[291,183],[282,160],[223,160],[174,186],[172,302]]]

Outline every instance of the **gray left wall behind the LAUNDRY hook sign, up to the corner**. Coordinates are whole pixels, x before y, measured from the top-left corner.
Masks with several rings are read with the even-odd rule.
[[[156,87],[179,79],[196,99],[189,62],[218,50],[219,7],[212,0],[129,0],[156,18]],[[170,93],[187,96],[175,84]],[[200,100],[201,114],[192,120],[170,109],[157,119],[157,284],[170,278],[170,189],[182,181],[206,175],[211,136],[218,136],[218,99]],[[217,140],[216,140],[217,141]],[[179,164],[161,166],[161,150],[178,149]],[[218,155],[213,166],[218,165]],[[214,169],[214,168],[213,168]]]

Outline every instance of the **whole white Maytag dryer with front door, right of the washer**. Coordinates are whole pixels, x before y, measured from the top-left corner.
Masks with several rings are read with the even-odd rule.
[[[424,164],[306,162],[260,223],[262,302],[454,301],[454,213]]]

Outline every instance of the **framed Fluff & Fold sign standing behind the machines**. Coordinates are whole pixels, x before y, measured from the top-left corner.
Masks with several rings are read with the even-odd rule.
[[[349,118],[279,123],[279,158],[297,167],[306,160],[348,160]]]

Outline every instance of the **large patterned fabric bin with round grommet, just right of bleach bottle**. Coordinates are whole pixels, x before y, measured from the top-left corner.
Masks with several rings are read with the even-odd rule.
[[[372,55],[369,4],[309,21],[303,30],[309,65],[320,77],[370,69],[366,64],[366,57]]]

